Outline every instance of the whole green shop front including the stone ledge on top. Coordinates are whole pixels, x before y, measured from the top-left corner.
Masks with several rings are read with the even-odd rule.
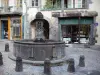
[[[96,11],[52,12],[58,18],[59,40],[65,43],[95,44]]]

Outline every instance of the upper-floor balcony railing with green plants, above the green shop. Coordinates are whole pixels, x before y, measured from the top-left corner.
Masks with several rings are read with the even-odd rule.
[[[64,3],[64,5],[62,5],[61,0],[47,0],[48,2],[46,2],[46,4],[41,8],[42,10],[61,10],[62,6],[64,6],[64,10],[68,10],[68,9],[86,9],[87,8],[87,4],[86,2],[84,3]],[[52,2],[55,1],[55,2]]]

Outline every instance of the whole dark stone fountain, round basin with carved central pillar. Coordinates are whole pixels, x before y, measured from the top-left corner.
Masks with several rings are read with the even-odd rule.
[[[28,61],[35,64],[43,64],[46,58],[49,58],[51,63],[61,63],[64,61],[65,43],[62,41],[44,39],[43,22],[44,18],[42,13],[38,12],[35,19],[35,39],[14,41],[14,57],[21,57],[25,62]]]

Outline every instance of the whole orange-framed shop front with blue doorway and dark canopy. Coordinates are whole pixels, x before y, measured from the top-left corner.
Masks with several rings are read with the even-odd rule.
[[[22,39],[22,17],[19,14],[0,14],[0,38]]]

